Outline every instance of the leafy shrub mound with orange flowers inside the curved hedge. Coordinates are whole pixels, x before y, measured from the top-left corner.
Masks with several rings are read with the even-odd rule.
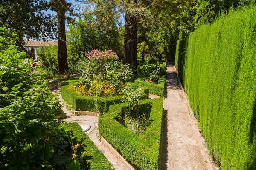
[[[116,54],[111,50],[93,51],[98,54],[94,54],[94,57],[87,56],[87,59],[82,59],[79,63],[81,84],[73,89],[87,96],[121,95],[125,82],[134,75],[132,68],[117,61]],[[104,53],[110,53],[111,56],[105,56]]]

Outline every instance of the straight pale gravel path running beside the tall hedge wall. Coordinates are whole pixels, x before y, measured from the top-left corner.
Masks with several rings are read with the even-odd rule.
[[[166,72],[161,170],[214,170],[175,66],[167,65]]]

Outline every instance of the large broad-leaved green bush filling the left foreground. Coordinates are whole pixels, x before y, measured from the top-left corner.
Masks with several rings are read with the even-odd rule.
[[[42,160],[37,155],[57,127],[60,105],[9,34],[0,28],[0,168],[38,169]]]

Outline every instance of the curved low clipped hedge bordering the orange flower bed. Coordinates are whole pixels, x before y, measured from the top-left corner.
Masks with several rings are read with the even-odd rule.
[[[76,91],[69,88],[70,85],[74,86],[79,83],[79,80],[68,80],[61,82],[61,97],[67,104],[76,111],[93,111],[97,113],[107,113],[110,105],[122,102],[122,96],[110,97],[95,97],[95,96],[82,96],[77,94]],[[129,83],[132,87],[138,88],[139,86],[134,83]],[[149,89],[144,88],[142,99],[148,98]]]

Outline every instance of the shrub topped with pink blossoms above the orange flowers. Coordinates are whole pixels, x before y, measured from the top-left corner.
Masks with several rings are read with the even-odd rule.
[[[86,57],[99,66],[99,72],[101,73],[102,81],[107,79],[108,66],[111,64],[111,62],[114,62],[118,59],[116,53],[112,52],[112,50],[92,50],[91,52],[87,53]]]

